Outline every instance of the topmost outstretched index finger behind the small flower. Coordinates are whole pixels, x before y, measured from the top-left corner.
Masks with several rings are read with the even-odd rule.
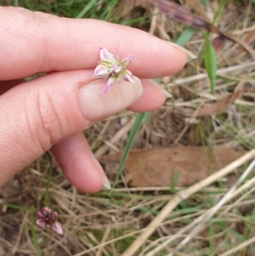
[[[172,44],[144,31],[105,21],[65,19],[2,7],[0,23],[0,80],[94,68],[100,47],[121,58],[133,54],[130,70],[137,77],[167,76],[186,62],[186,54]]]

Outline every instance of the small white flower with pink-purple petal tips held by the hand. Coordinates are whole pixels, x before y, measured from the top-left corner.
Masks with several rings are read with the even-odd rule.
[[[127,82],[133,82],[133,75],[127,71],[126,67],[133,59],[133,55],[121,60],[118,55],[116,57],[106,48],[100,48],[99,65],[94,70],[94,77],[107,78],[104,93],[106,94],[113,84],[119,84],[122,79]]]

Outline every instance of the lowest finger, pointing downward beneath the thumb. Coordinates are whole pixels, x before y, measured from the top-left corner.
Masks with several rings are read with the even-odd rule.
[[[93,193],[111,185],[104,170],[89,149],[83,134],[61,140],[51,150],[65,177],[80,191]]]

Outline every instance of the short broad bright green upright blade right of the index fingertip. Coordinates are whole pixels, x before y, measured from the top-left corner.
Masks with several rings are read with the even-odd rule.
[[[204,37],[206,39],[205,42],[205,51],[204,51],[204,60],[205,66],[207,70],[207,75],[211,82],[211,91],[212,94],[215,94],[215,81],[216,81],[216,71],[217,71],[217,56],[216,52],[212,46],[212,43],[209,37],[205,34]]]

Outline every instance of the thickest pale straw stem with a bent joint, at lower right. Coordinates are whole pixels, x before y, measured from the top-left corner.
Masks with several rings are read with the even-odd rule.
[[[167,205],[162,208],[161,212],[150,222],[150,225],[144,230],[144,232],[132,243],[132,245],[122,254],[122,256],[132,256],[139,247],[141,247],[146,239],[156,230],[157,226],[161,224],[161,222],[166,219],[167,215],[173,211],[174,208],[178,206],[178,204],[187,199],[189,196],[193,195],[197,191],[201,191],[207,185],[212,184],[216,180],[224,177],[226,174],[231,173],[235,168],[238,168],[244,162],[247,162],[255,157],[255,150],[249,151],[246,155],[241,156],[235,162],[230,163],[225,168],[220,169],[216,174],[212,174],[207,179],[202,180],[201,182],[191,186],[190,188],[179,191],[173,199],[167,203]]]

